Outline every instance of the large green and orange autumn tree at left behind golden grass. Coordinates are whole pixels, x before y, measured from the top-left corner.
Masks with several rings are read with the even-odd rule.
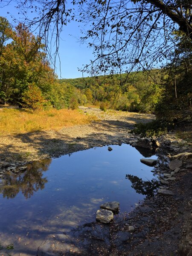
[[[7,39],[10,39],[9,43],[6,42]],[[22,94],[30,84],[39,87],[46,97],[52,89],[55,76],[46,60],[41,38],[32,35],[21,23],[13,30],[9,23],[1,18],[0,42],[1,101],[22,104]]]

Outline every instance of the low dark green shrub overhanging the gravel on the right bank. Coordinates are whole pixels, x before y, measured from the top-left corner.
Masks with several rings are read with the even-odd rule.
[[[138,123],[131,133],[141,134],[142,137],[160,136],[167,133],[168,129],[174,128],[174,125],[162,120],[154,120],[152,122]]]

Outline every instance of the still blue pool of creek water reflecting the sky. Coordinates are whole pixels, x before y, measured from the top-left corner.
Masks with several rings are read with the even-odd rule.
[[[31,170],[12,175],[12,189],[17,190],[15,198],[7,199],[9,186],[3,190],[5,198],[0,195],[0,241],[14,243],[13,256],[35,255],[47,235],[94,221],[103,202],[119,201],[123,212],[145,197],[131,188],[132,183],[125,175],[151,180],[152,167],[141,163],[143,156],[130,145],[112,148],[92,148],[44,160],[43,167],[41,163],[30,167],[34,175]],[[10,177],[7,181],[10,183]]]

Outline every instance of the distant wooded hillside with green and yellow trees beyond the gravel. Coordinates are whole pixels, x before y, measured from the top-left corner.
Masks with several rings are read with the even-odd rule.
[[[107,102],[108,108],[116,110],[150,112],[154,111],[162,93],[158,85],[159,77],[159,70],[151,70],[150,75],[148,72],[133,72],[129,75],[64,79],[61,82],[76,88],[81,105],[89,103],[100,106],[102,102]]]

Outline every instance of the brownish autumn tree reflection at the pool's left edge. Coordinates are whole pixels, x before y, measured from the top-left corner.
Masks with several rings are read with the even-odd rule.
[[[0,186],[0,193],[4,198],[15,198],[21,191],[26,198],[30,198],[38,189],[44,189],[47,178],[42,176],[50,163],[51,159],[45,159],[29,165],[26,172],[6,174]]]

